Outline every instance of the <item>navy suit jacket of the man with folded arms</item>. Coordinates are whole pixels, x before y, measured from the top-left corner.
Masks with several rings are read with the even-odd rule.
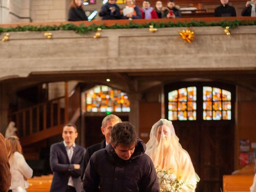
[[[50,166],[53,172],[53,178],[50,192],[66,192],[69,176],[72,176],[76,191],[80,192],[82,186],[80,176],[85,151],[85,148],[76,145],[70,163],[63,141],[52,144],[50,149]],[[74,164],[80,164],[80,169],[75,169]]]

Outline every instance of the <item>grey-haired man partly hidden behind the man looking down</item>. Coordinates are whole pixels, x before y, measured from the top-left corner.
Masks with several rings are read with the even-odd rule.
[[[110,131],[112,127],[117,124],[122,122],[122,120],[116,116],[116,115],[107,115],[103,120],[102,120],[102,125],[101,125],[101,131],[102,134],[105,136],[105,140],[102,141],[101,143],[92,145],[86,149],[86,154],[84,158],[84,166],[82,169],[82,174],[81,174],[81,180],[84,178],[84,172],[86,169],[86,166],[92,156],[92,154],[100,149],[106,148],[106,145],[108,145],[109,140],[110,140]]]

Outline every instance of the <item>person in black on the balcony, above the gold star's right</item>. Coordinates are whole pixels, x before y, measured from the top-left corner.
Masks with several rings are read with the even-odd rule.
[[[236,10],[228,5],[228,0],[220,0],[221,6],[214,10],[215,17],[236,17]]]

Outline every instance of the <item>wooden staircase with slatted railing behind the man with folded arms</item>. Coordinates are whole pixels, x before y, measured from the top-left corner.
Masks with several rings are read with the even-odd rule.
[[[28,146],[62,133],[64,124],[75,123],[80,117],[80,87],[65,96],[18,110],[12,114],[22,146]]]

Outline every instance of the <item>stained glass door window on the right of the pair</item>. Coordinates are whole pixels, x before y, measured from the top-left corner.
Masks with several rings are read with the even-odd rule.
[[[231,92],[203,87],[203,119],[231,120]]]

